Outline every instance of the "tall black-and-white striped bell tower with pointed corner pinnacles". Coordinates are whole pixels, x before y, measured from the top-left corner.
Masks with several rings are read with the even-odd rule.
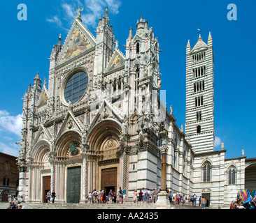
[[[213,39],[199,35],[193,49],[186,47],[186,139],[194,153],[214,150]]]

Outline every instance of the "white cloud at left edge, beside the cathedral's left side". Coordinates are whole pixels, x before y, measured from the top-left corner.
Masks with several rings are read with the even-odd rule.
[[[11,116],[8,112],[0,110],[0,127],[2,130],[12,132],[17,136],[21,136],[22,114]]]

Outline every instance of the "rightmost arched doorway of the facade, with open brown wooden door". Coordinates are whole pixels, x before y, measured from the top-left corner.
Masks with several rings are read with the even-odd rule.
[[[88,191],[111,189],[116,192],[121,182],[120,143],[122,130],[113,120],[104,120],[94,126],[89,136]]]

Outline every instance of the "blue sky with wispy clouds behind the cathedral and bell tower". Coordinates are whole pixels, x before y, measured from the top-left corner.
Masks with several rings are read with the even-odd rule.
[[[27,6],[27,20],[17,20],[17,6]],[[227,20],[229,3],[236,4],[237,20]],[[75,6],[85,6],[83,23],[94,34],[99,17],[109,9],[115,39],[125,53],[129,28],[135,33],[141,15],[158,38],[162,90],[167,107],[173,106],[178,126],[185,125],[185,47],[201,36],[213,37],[215,71],[215,150],[223,141],[226,157],[255,153],[255,0],[1,0],[0,152],[18,155],[22,98],[40,73],[48,78],[52,46],[62,33],[62,43],[76,16]]]

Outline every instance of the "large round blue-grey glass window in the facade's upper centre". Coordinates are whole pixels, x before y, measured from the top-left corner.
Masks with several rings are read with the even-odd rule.
[[[64,99],[71,104],[78,102],[87,89],[88,75],[84,71],[73,73],[64,87]]]

